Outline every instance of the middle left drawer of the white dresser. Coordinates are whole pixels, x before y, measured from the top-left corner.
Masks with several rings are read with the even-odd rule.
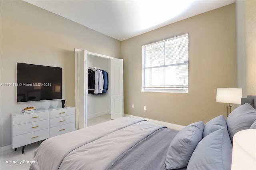
[[[14,125],[12,127],[12,136],[17,136],[24,133],[30,133],[37,130],[49,128],[49,119],[43,121],[36,121],[31,123],[24,123],[21,125]]]

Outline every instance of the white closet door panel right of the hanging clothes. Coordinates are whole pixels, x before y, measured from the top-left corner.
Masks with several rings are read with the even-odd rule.
[[[111,119],[124,116],[123,59],[111,61]]]

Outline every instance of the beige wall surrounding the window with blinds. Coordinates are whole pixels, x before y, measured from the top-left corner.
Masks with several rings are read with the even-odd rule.
[[[184,33],[189,35],[189,92],[141,92],[141,46]],[[122,41],[121,49],[124,113],[179,125],[225,115],[226,104],[216,102],[216,89],[236,87],[234,4]]]

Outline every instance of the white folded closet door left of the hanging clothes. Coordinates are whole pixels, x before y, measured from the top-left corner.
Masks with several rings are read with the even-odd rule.
[[[87,95],[88,69],[87,51],[76,51],[76,109],[78,113],[78,128],[87,126]]]

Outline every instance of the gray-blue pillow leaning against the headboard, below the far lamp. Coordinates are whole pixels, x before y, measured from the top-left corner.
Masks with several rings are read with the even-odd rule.
[[[250,104],[245,103],[234,109],[226,120],[231,142],[233,142],[233,136],[236,132],[249,129],[255,120],[256,110]]]

